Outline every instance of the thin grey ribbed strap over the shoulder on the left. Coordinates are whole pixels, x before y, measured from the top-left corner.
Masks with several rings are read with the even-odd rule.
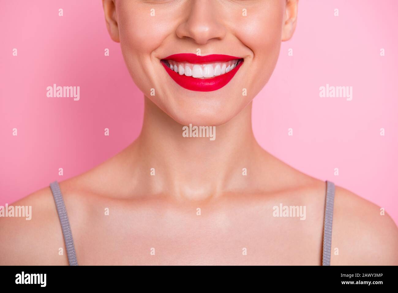
[[[69,265],[78,265],[76,259],[76,251],[73,244],[72,231],[70,230],[70,224],[68,214],[64,204],[61,190],[57,181],[50,183],[51,192],[57,206],[57,212],[59,221],[61,222],[62,234],[64,235],[66,254],[68,255]]]

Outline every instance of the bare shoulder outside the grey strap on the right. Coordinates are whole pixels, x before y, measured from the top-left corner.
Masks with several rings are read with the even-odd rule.
[[[379,206],[336,187],[332,265],[398,265],[398,229]]]

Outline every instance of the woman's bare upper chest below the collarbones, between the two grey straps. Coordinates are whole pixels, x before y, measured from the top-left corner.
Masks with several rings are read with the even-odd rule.
[[[82,265],[318,265],[322,223],[311,221],[267,207],[120,208],[88,221],[76,253]]]

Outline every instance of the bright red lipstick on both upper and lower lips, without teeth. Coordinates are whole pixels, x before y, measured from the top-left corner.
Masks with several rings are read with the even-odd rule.
[[[178,63],[191,63],[191,64],[205,64],[205,63],[216,63],[216,62],[228,62],[231,60],[239,60],[240,62],[234,69],[231,71],[214,76],[209,78],[195,78],[192,76],[179,75],[179,73],[170,69],[168,65],[166,65],[166,60],[173,60]],[[221,55],[221,54],[212,54],[206,56],[197,56],[191,53],[181,53],[174,54],[168,57],[165,57],[161,60],[161,63],[166,69],[166,72],[170,75],[170,77],[181,87],[186,88],[188,90],[195,90],[200,92],[209,92],[213,90],[218,90],[224,87],[227,83],[230,82],[232,77],[236,74],[238,69],[243,63],[243,59],[241,57],[229,56],[229,55]]]

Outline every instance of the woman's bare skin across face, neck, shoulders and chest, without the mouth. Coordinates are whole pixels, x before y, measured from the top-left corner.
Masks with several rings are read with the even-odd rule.
[[[298,2],[103,0],[103,8],[144,93],[144,124],[123,151],[60,182],[79,265],[322,264],[325,182],[267,153],[251,125],[252,100],[272,74],[281,41],[293,35]],[[244,63],[225,87],[189,91],[160,59],[197,49]],[[183,138],[182,125],[190,123],[216,126],[216,140]],[[273,217],[280,203],[306,206],[306,219]],[[31,205],[33,216],[0,218],[0,264],[67,265],[50,188],[14,205]],[[398,264],[396,224],[341,187],[331,264]]]

